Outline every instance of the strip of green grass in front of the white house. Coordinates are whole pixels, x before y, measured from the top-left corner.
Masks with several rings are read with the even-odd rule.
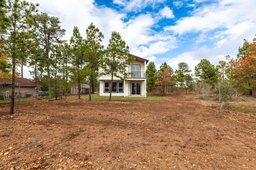
[[[109,100],[108,96],[100,96],[100,94],[92,94],[92,100]],[[84,95],[80,97],[81,99],[89,100],[89,95]],[[147,97],[116,97],[111,96],[111,100],[167,100],[166,98],[153,96],[147,94]]]

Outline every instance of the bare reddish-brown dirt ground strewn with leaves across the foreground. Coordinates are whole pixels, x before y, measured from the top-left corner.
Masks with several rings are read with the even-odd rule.
[[[167,98],[0,104],[0,170],[256,169],[256,116]]]

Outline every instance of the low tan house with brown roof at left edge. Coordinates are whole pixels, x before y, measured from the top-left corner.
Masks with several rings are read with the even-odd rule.
[[[0,78],[0,91],[4,96],[8,97],[12,94],[12,80],[8,78]],[[38,84],[27,78],[15,78],[15,97],[29,98],[36,96]]]

